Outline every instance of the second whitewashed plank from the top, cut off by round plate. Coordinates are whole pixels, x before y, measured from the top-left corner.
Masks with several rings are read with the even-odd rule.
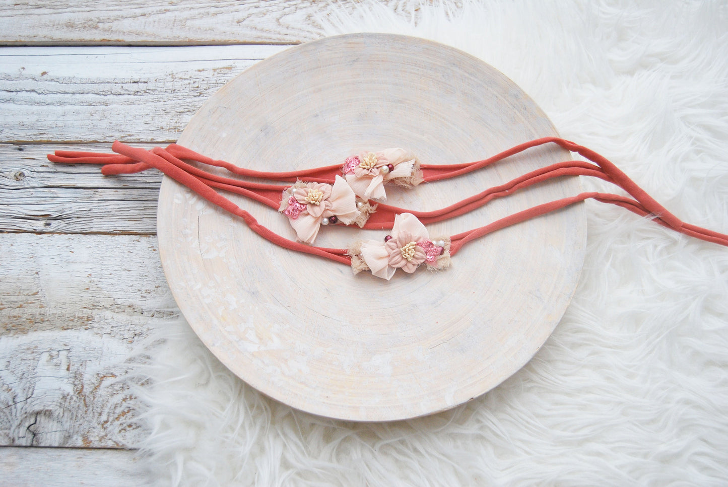
[[[170,142],[283,46],[0,48],[0,142]]]

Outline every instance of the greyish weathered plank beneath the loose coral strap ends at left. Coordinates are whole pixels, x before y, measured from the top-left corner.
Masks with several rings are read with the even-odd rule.
[[[157,170],[106,177],[98,165],[46,158],[56,149],[109,152],[110,146],[0,144],[0,231],[156,234]]]

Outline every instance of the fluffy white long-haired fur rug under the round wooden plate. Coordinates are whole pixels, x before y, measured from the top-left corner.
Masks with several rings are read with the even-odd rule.
[[[341,12],[325,20],[328,34],[422,36],[491,63],[564,138],[612,159],[685,221],[728,232],[724,2]],[[582,280],[553,336],[505,383],[435,416],[355,424],[294,411],[170,322],[140,392],[160,483],[727,485],[728,249],[617,207],[588,212]]]

